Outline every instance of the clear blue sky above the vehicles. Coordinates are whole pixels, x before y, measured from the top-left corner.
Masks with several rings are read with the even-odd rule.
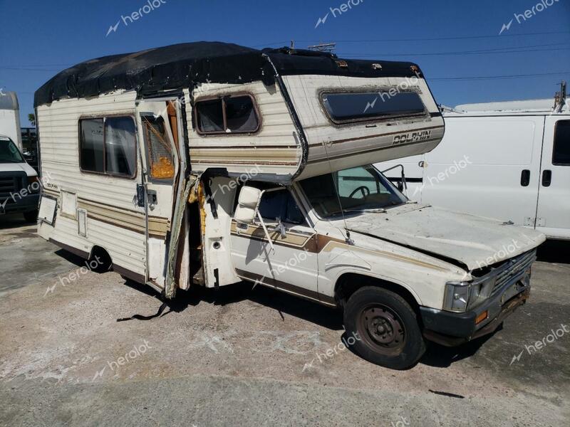
[[[186,41],[259,48],[291,39],[297,48],[336,42],[341,57],[412,60],[445,105],[549,98],[561,79],[570,80],[570,0],[349,0],[345,11],[341,0],[162,0],[125,25],[121,16],[146,1],[0,0],[0,88],[18,93],[22,126],[33,92],[59,70]],[[487,78],[505,75],[531,76]]]

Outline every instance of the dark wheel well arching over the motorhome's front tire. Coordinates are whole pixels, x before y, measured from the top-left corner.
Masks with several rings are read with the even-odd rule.
[[[418,319],[420,318],[420,306],[418,305],[418,301],[415,300],[415,297],[412,295],[412,292],[397,283],[378,278],[371,278],[370,276],[356,273],[345,273],[336,281],[334,295],[337,304],[344,307],[348,298],[350,298],[358,289],[365,286],[378,286],[379,288],[384,288],[400,295],[400,297],[403,297],[403,299],[408,302],[410,307],[412,307],[416,312]]]

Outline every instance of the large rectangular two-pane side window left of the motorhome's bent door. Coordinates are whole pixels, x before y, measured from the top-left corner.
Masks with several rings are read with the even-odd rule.
[[[79,120],[79,153],[83,172],[133,178],[137,173],[135,120],[130,116]]]

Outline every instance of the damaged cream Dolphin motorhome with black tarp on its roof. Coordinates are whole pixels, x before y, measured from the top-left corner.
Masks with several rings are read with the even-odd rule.
[[[341,307],[358,354],[404,369],[529,295],[541,233],[410,202],[370,166],[443,137],[413,63],[184,43],[78,64],[35,105],[38,233],[167,298],[248,280]]]

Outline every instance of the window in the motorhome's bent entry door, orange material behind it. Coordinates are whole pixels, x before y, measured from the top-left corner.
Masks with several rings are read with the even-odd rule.
[[[154,179],[173,179],[175,173],[172,149],[162,117],[142,116],[148,149],[150,176]]]

